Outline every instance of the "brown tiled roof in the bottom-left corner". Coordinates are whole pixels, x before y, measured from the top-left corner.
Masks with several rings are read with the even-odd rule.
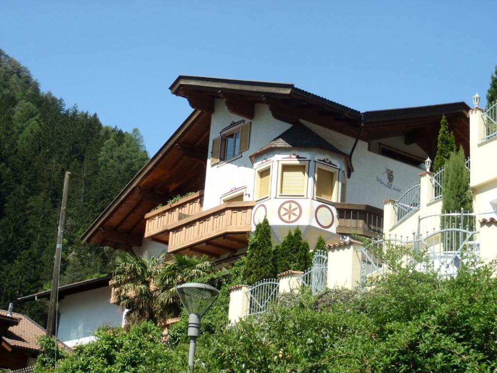
[[[8,317],[7,311],[0,310],[0,316]],[[12,317],[18,319],[19,323],[7,329],[5,335],[1,337],[2,341],[13,349],[30,351],[37,355],[40,349],[38,339],[45,335],[46,330],[21,313],[12,312]],[[59,342],[59,346],[69,349],[62,342]]]

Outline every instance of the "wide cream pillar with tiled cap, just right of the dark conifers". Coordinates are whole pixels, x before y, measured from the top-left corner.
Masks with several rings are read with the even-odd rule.
[[[361,278],[362,242],[350,240],[327,245],[328,287],[353,289]]]

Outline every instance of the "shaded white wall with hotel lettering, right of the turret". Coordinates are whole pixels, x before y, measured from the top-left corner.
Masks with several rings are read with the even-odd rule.
[[[349,154],[355,139],[307,121],[303,123],[342,152]],[[387,198],[397,199],[402,192],[419,181],[423,170],[368,150],[368,143],[358,141],[352,155],[354,172],[347,180],[346,202],[366,203],[383,208]],[[389,185],[387,170],[394,180]]]

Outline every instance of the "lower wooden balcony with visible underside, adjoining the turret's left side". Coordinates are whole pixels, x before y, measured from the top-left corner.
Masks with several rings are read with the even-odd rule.
[[[168,226],[168,252],[189,249],[218,257],[248,244],[255,201],[226,202]]]

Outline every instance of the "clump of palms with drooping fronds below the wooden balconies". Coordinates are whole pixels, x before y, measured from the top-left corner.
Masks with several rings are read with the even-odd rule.
[[[167,261],[166,261],[167,258]],[[162,252],[150,258],[125,253],[112,274],[115,302],[128,309],[126,325],[144,320],[160,323],[179,313],[176,285],[205,276],[212,269],[207,256]]]

